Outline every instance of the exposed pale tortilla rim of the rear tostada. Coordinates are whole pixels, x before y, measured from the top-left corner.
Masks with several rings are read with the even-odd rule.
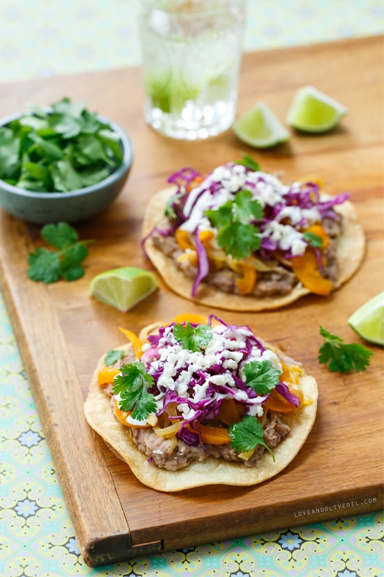
[[[175,194],[175,187],[168,187],[150,199],[142,227],[143,238],[161,222],[165,206],[170,197],[172,197],[172,194]],[[352,203],[346,201],[342,205],[337,205],[334,210],[343,215],[344,223],[337,247],[339,282],[335,288],[338,288],[346,283],[359,268],[364,257],[365,238],[362,225],[360,225],[355,207]],[[148,238],[146,241],[145,250],[152,264],[154,264],[170,289],[185,299],[207,306],[223,308],[227,311],[266,311],[290,304],[310,292],[302,285],[297,285],[289,294],[260,298],[251,295],[228,294],[202,282],[198,287],[198,294],[196,297],[192,297],[193,280],[186,276],[183,271],[177,269],[177,266],[170,257],[167,257],[161,250],[156,248],[152,238]]]

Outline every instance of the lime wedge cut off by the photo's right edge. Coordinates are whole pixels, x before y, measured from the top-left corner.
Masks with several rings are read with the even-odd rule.
[[[362,339],[384,345],[384,292],[357,308],[348,318],[348,325]]]

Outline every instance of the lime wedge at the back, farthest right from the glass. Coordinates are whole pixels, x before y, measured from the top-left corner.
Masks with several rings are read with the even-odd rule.
[[[286,122],[304,132],[326,132],[339,124],[347,109],[313,86],[304,86],[290,104]]]

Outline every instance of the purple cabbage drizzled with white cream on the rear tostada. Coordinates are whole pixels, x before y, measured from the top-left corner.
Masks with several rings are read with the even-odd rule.
[[[283,250],[283,256],[286,259],[304,254],[309,241],[304,238],[302,231],[311,225],[313,219],[316,222],[316,216],[313,217],[313,214],[317,215],[320,220],[325,218],[334,219],[336,218],[334,207],[338,204],[343,204],[349,198],[349,194],[344,192],[332,199],[324,199],[320,194],[320,187],[316,183],[309,181],[307,183],[293,183],[291,186],[283,185],[277,178],[267,173],[254,171],[248,166],[240,166],[234,162],[228,162],[223,166],[217,167],[198,186],[192,187],[191,192],[189,192],[191,183],[197,177],[202,177],[202,175],[192,168],[184,167],[168,178],[168,182],[176,187],[175,194],[170,199],[169,204],[174,216],[171,219],[172,226],[163,230],[154,227],[142,239],[142,248],[145,251],[145,242],[154,234],[170,236],[181,225],[184,225],[184,228],[193,234],[198,257],[198,272],[193,282],[192,297],[196,296],[200,282],[209,274],[207,251],[200,241],[200,225],[206,210],[204,207],[218,208],[218,206],[226,202],[226,199],[233,199],[241,190],[250,190],[253,194],[253,199],[262,199],[263,218],[254,220],[252,224],[258,227],[261,236],[260,248],[255,251],[255,255],[261,260],[267,261],[274,257],[276,250]],[[270,189],[272,194],[263,196],[263,190],[266,189]],[[218,198],[220,199],[219,201],[217,201]],[[221,201],[222,198],[223,201]],[[288,210],[289,215],[289,213],[293,213],[292,209],[300,209],[304,212],[301,218],[300,213],[298,214],[297,222],[289,222],[288,216],[287,223],[286,212]],[[197,211],[195,218],[193,218],[194,210]],[[281,214],[281,211],[286,212]],[[311,214],[310,218],[309,214]],[[198,218],[196,218],[196,215]],[[302,235],[299,239],[299,248],[293,251],[291,250],[292,246],[289,244],[288,248],[286,246],[281,247],[279,244],[280,240],[279,238],[276,240],[274,228],[272,227],[272,224],[275,225],[276,223],[281,226],[288,224],[297,231],[297,234]],[[319,255],[320,252],[317,251],[316,256],[320,263]],[[322,266],[320,267],[321,269]]]

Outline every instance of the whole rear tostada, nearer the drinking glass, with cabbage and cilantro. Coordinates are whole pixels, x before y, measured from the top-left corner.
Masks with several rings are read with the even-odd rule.
[[[326,296],[355,273],[364,232],[348,193],[287,185],[242,159],[208,176],[182,169],[150,199],[142,245],[168,286],[233,311]]]

